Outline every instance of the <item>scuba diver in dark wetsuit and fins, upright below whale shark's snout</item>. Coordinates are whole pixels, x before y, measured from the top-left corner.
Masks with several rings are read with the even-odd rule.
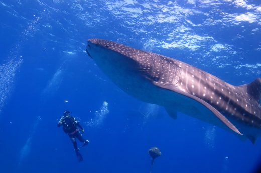
[[[84,143],[82,147],[86,146],[89,143],[89,140],[85,140],[79,132],[79,130],[81,130],[84,133],[84,128],[80,125],[79,121],[77,121],[74,117],[71,116],[71,113],[68,110],[64,111],[63,116],[59,120],[57,127],[60,126],[63,126],[63,131],[70,137],[78,161],[83,161],[82,155],[80,154],[79,148],[77,147],[76,138],[78,138],[78,140]]]

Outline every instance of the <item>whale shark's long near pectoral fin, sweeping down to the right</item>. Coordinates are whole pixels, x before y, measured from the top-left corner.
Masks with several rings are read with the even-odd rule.
[[[173,84],[164,84],[164,83],[160,83],[160,82],[153,82],[156,86],[164,88],[164,89],[168,89],[171,90],[173,92],[182,94],[184,96],[187,96],[191,99],[194,99],[195,101],[201,103],[202,105],[204,105],[205,107],[207,107],[210,111],[212,111],[212,113],[214,113],[216,115],[216,117],[221,120],[228,128],[230,128],[232,131],[234,131],[235,133],[239,134],[239,135],[243,135],[242,133],[240,133],[240,131],[222,114],[220,113],[217,109],[215,109],[213,106],[211,106],[209,103],[207,103],[206,101],[192,95],[189,94],[187,92],[183,92],[180,89],[178,89],[175,85]]]

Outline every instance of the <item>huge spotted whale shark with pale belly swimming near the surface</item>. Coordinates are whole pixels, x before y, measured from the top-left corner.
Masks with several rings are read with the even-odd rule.
[[[121,90],[232,131],[255,143],[261,134],[261,78],[234,86],[199,68],[103,39],[89,39],[87,54]]]

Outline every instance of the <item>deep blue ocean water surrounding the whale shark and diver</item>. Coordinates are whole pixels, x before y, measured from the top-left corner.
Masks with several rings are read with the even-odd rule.
[[[255,172],[261,139],[121,91],[85,52],[108,39],[173,57],[233,84],[261,77],[260,0],[0,0],[0,172]],[[90,143],[78,163],[57,122]],[[79,142],[78,142],[79,143]]]

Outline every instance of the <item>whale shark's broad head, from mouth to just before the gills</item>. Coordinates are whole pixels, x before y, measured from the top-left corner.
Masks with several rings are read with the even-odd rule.
[[[86,52],[119,88],[148,102],[143,95],[161,76],[153,72],[160,69],[159,55],[102,39],[89,39]]]

